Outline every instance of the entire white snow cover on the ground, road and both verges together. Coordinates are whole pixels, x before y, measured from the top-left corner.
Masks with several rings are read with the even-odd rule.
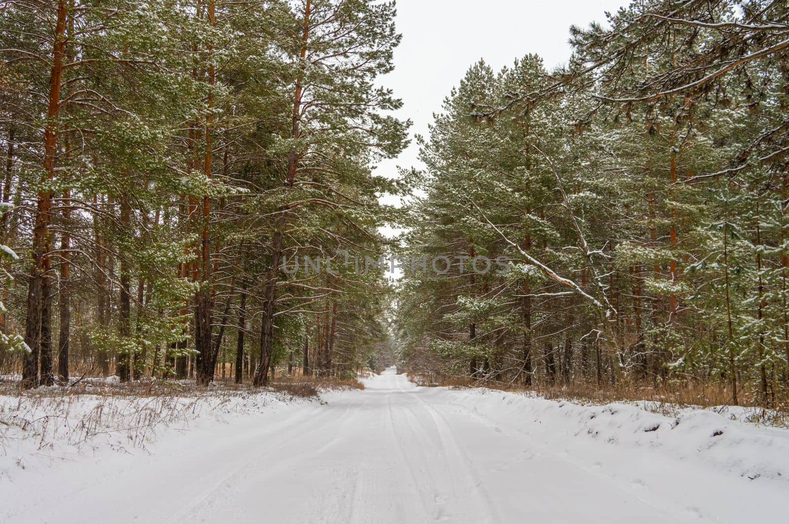
[[[323,403],[271,393],[156,397],[147,406],[128,397],[34,406],[0,397],[0,522],[650,524],[785,515],[787,429],[704,410],[667,417],[630,404],[417,388],[394,369],[365,385],[325,393]],[[30,426],[9,426],[14,415]],[[85,420],[95,424],[77,423]],[[139,433],[135,424],[155,429]]]

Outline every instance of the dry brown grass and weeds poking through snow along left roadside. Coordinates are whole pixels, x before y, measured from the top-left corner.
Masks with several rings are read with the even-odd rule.
[[[62,442],[81,446],[107,437],[118,449],[142,448],[159,428],[188,426],[201,413],[256,413],[276,402],[316,396],[315,388],[252,388],[247,385],[196,387],[194,381],[79,384],[22,391],[0,387],[0,454],[20,439],[35,439],[39,449]]]

